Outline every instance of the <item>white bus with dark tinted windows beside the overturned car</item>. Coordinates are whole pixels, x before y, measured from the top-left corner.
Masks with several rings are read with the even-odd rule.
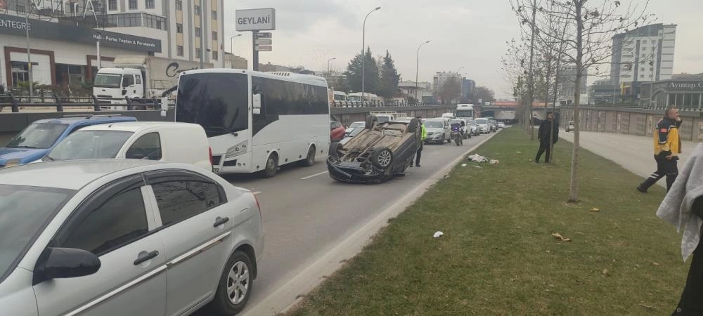
[[[182,72],[176,121],[205,129],[215,172],[261,171],[270,178],[278,166],[311,166],[328,151],[327,81],[289,72]]]

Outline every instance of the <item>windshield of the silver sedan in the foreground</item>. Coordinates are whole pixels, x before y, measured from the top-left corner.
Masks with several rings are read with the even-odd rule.
[[[0,185],[0,282],[74,191]]]

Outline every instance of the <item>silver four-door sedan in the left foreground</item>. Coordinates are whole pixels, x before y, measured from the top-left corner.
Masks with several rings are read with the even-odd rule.
[[[257,277],[258,205],[188,164],[0,170],[0,314],[232,315]]]

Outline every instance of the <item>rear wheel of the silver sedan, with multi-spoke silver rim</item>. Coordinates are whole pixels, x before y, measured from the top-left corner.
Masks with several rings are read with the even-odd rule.
[[[251,258],[247,254],[241,251],[232,254],[222,271],[209,310],[216,315],[235,315],[241,312],[252,293],[253,271]]]

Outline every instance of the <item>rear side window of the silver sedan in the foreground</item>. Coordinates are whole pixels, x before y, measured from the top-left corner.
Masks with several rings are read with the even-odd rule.
[[[219,185],[205,179],[169,179],[153,183],[151,187],[164,226],[191,218],[225,202],[220,196]]]

